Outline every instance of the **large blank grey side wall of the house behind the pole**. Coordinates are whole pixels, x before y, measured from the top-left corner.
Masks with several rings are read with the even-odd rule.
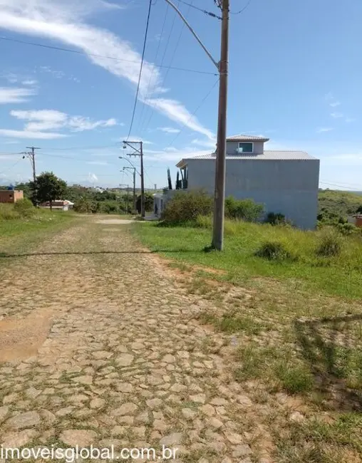
[[[189,189],[214,194],[214,160],[187,160]],[[319,160],[227,160],[226,195],[254,199],[301,229],[314,229],[318,213]]]

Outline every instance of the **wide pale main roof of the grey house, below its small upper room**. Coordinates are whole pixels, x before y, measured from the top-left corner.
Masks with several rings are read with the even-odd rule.
[[[214,152],[207,153],[205,155],[198,155],[194,157],[185,157],[180,160],[177,167],[183,167],[189,160],[214,160],[216,154]],[[270,160],[314,160],[315,157],[309,155],[304,151],[269,151],[265,150],[261,155],[245,153],[244,155],[229,155],[226,157],[227,160],[258,160],[258,161],[270,161]]]

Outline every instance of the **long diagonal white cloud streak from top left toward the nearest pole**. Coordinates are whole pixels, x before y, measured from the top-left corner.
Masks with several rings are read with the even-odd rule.
[[[88,54],[91,63],[125,78],[135,86],[140,71],[140,53],[114,33],[86,23],[88,16],[115,8],[119,7],[104,0],[0,0],[0,28],[55,39],[66,46],[76,47]],[[53,73],[47,66],[43,71]],[[59,73],[58,77],[63,76]],[[146,96],[152,97],[147,100],[152,108],[191,130],[211,137],[212,132],[203,127],[195,116],[191,116],[182,103],[157,98],[157,94],[166,90],[161,87],[160,77],[160,71],[152,63],[143,63],[140,100],[145,100]]]

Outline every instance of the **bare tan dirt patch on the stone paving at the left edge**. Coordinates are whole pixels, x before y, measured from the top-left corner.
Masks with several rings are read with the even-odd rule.
[[[26,318],[0,321],[0,362],[26,360],[36,355],[51,329],[49,311],[33,311]]]

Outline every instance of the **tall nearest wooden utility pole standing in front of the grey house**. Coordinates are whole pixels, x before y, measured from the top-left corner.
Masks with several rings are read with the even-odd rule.
[[[227,138],[227,74],[229,59],[229,0],[219,0],[222,8],[221,56],[219,62],[219,115],[215,165],[214,227],[212,247],[222,251],[224,245],[225,157]]]

